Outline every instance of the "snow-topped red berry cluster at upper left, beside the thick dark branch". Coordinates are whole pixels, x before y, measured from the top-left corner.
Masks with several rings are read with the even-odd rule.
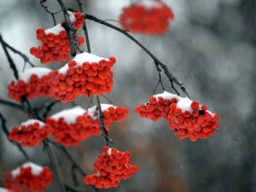
[[[79,12],[74,14],[68,12],[68,14],[74,28],[79,29],[84,22],[83,15]],[[38,28],[37,38],[42,44],[39,45],[38,48],[32,47],[30,53],[40,59],[42,64],[68,60],[70,45],[67,32],[61,24],[47,30]],[[84,44],[85,40],[83,37],[77,37],[77,40],[79,45]]]

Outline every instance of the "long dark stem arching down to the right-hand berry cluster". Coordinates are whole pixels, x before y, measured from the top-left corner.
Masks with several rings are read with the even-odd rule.
[[[87,20],[93,20],[97,23],[102,24],[103,26],[108,26],[117,32],[121,32],[127,38],[130,38],[135,44],[137,44],[141,49],[143,49],[153,59],[155,66],[160,66],[163,69],[163,71],[166,74],[166,77],[170,80],[170,82],[172,84],[172,89],[175,90],[177,95],[179,95],[179,93],[173,86],[173,83],[177,84],[180,87],[180,89],[183,91],[183,93],[190,98],[188,91],[183,86],[183,83],[180,80],[178,80],[172,73],[170,73],[168,68],[166,67],[166,65],[164,63],[162,63],[151,51],[149,51],[146,47],[144,47],[143,44],[138,42],[136,38],[133,38],[128,32],[119,28],[118,26],[113,26],[112,24],[109,24],[108,22],[106,22],[104,20],[100,20],[93,15],[84,14],[84,18]]]

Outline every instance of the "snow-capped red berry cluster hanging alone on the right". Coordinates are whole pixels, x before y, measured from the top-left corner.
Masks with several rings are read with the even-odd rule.
[[[148,103],[137,106],[135,112],[154,121],[166,119],[179,139],[189,137],[193,142],[207,139],[218,128],[218,113],[207,110],[207,105],[167,91],[151,96]]]

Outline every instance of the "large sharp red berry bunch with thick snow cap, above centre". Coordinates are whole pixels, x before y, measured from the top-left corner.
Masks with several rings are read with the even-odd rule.
[[[89,53],[76,55],[67,65],[50,74],[49,85],[55,99],[73,102],[76,96],[109,93],[113,85],[114,57],[104,59]]]

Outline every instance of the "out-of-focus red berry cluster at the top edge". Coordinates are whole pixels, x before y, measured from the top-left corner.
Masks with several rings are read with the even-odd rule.
[[[119,21],[125,30],[150,35],[163,34],[174,19],[172,9],[160,1],[143,1],[123,9]]]

